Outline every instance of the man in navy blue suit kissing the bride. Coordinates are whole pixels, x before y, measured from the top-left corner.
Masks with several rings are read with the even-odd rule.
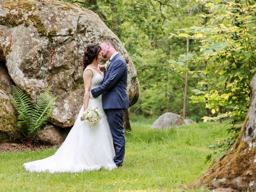
[[[116,151],[114,162],[116,166],[122,167],[125,150],[124,112],[131,106],[126,90],[128,69],[112,41],[103,42],[100,48],[102,56],[110,59],[110,64],[104,70],[102,85],[91,92],[94,98],[102,94],[102,106],[108,117]]]

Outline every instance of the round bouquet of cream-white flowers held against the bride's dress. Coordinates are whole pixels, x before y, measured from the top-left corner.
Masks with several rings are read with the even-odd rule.
[[[81,121],[86,121],[89,125],[96,125],[101,119],[100,111],[97,107],[91,107],[84,111]]]

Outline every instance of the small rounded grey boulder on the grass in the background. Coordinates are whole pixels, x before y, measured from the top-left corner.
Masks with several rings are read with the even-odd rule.
[[[153,129],[172,128],[184,125],[183,118],[175,113],[167,112],[162,114],[151,126]]]

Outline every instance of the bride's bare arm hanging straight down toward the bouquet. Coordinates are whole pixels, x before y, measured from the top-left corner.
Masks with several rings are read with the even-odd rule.
[[[92,84],[92,70],[86,70],[84,72],[84,111],[88,107],[88,102],[90,98],[90,92],[91,92],[91,84]]]

